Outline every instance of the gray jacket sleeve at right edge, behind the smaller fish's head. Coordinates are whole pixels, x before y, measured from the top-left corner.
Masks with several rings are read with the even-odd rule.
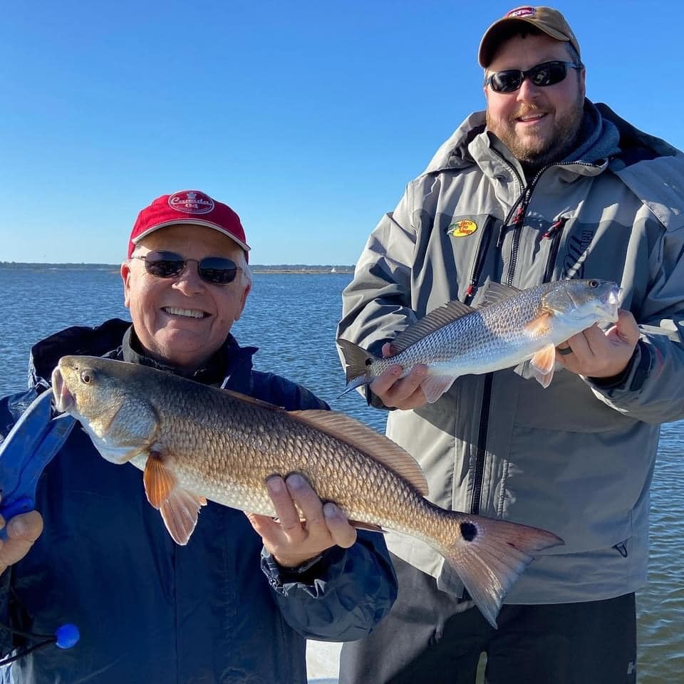
[[[684,418],[684,226],[665,231],[651,260],[631,362],[613,383],[587,382],[611,408],[657,424]]]

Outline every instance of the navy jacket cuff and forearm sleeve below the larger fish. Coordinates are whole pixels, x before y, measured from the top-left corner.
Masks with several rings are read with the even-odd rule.
[[[281,568],[264,550],[261,569],[289,626],[319,641],[363,638],[397,597],[385,539],[373,532],[360,531],[349,549],[333,546],[295,570]]]

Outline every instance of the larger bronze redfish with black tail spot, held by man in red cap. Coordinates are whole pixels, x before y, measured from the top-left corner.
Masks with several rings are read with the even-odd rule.
[[[275,515],[266,479],[300,473],[321,499],[371,529],[431,544],[495,625],[509,587],[555,534],[447,511],[425,499],[418,463],[387,437],[333,411],[286,411],[123,361],[65,356],[53,371],[58,410],[81,421],[113,463],[144,471],[150,504],[186,544],[211,499]]]

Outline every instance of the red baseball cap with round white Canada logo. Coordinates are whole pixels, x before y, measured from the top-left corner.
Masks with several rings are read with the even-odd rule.
[[[199,190],[181,190],[173,195],[162,195],[142,209],[135,220],[128,241],[128,258],[133,256],[135,245],[157,229],[176,224],[207,226],[226,234],[244,249],[248,257],[249,245],[244,237],[240,217],[223,202],[217,202]]]

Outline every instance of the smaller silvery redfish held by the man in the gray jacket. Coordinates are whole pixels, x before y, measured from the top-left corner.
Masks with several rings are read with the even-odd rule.
[[[420,387],[433,403],[460,375],[500,371],[528,359],[529,372],[548,387],[556,345],[599,321],[617,321],[619,294],[605,280],[562,280],[527,290],[490,283],[478,309],[460,301],[433,309],[390,342],[390,356],[338,339],[347,367],[343,394],[372,383],[389,366],[402,366],[403,378],[424,363]]]

